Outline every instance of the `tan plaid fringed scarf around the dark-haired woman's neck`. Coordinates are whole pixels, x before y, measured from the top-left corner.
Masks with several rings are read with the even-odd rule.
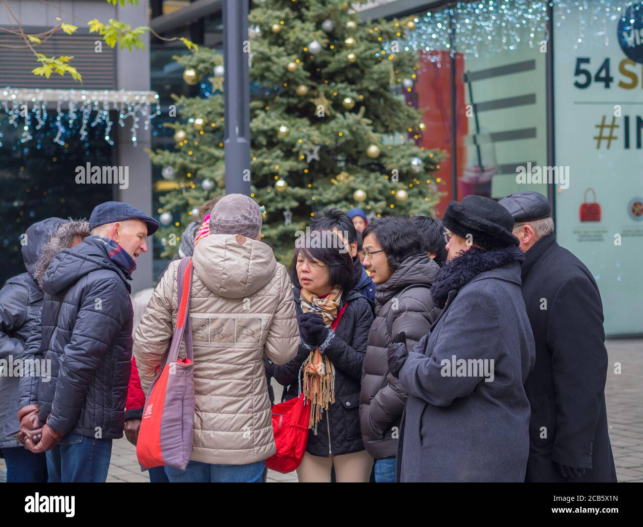
[[[342,290],[334,287],[323,299],[310,291],[302,289],[301,304],[304,313],[318,313],[324,324],[330,328],[336,319],[341,304]],[[312,349],[308,358],[303,362],[303,395],[311,402],[311,414],[308,428],[314,428],[317,434],[317,423],[321,414],[335,402],[335,367],[331,360],[320,352],[319,347]]]

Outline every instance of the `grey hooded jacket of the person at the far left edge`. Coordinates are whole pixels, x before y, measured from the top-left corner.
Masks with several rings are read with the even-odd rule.
[[[42,245],[64,219],[50,217],[26,230],[27,243],[22,247],[26,268],[8,279],[0,290],[0,360],[7,361],[7,371],[0,374],[0,448],[21,447],[18,433],[18,387],[20,378],[14,369],[24,359],[24,344],[35,326],[42,307],[43,293],[33,279]],[[17,370],[15,370],[18,373]]]

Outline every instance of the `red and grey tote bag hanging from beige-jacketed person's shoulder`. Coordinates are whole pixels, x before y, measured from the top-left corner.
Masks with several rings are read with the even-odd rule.
[[[192,258],[184,258],[177,273],[179,313],[172,344],[145,400],[136,441],[141,470],[168,465],[185,470],[192,454],[194,421],[194,355],[190,326]],[[186,358],[177,360],[185,335]]]

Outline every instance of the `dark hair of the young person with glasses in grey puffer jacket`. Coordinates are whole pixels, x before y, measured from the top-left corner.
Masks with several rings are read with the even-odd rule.
[[[421,254],[422,242],[415,225],[408,217],[384,216],[368,224],[362,232],[364,239],[372,234],[384,249],[388,266],[395,271],[410,256]]]

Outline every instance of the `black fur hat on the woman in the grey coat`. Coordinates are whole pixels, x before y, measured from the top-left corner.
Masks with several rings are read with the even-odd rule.
[[[500,249],[518,246],[513,234],[514,218],[509,210],[493,199],[482,196],[467,196],[461,203],[451,201],[442,223],[453,234],[473,237],[473,243],[485,249]]]

